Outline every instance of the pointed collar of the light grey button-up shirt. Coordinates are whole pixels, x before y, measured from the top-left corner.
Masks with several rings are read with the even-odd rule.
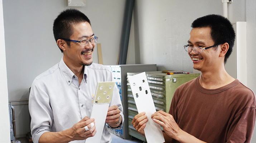
[[[64,63],[63,61],[63,56],[61,58],[61,61],[59,62],[59,68],[62,70],[64,77],[66,78],[66,81],[69,84],[71,84],[73,80],[73,76],[76,76],[69,68],[68,66]],[[87,66],[84,67],[84,74],[83,74],[83,80],[84,82],[87,83]]]

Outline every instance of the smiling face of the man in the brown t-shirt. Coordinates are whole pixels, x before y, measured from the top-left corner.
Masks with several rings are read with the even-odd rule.
[[[193,28],[190,32],[188,44],[190,47],[198,46],[206,48],[214,45],[214,41],[211,37],[211,28]],[[193,68],[199,71],[215,70],[216,66],[219,65],[219,52],[220,48],[215,50],[210,48],[203,50],[203,53],[196,54],[193,50],[188,53],[191,60],[193,61]]]

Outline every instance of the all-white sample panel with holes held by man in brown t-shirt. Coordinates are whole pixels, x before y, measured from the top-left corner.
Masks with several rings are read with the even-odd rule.
[[[128,77],[132,95],[139,113],[145,112],[148,117],[148,122],[144,129],[148,143],[163,143],[164,136],[161,126],[151,119],[151,115],[156,112],[153,98],[150,92],[146,73],[140,73]]]

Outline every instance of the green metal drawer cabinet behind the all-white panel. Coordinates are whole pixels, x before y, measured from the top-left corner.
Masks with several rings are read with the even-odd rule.
[[[137,73],[127,73],[129,76]],[[148,78],[149,88],[153,101],[155,104],[156,111],[163,110],[168,113],[172,102],[173,94],[175,90],[182,85],[194,78],[197,78],[200,74],[172,74],[166,75],[165,73],[150,73],[146,72]],[[127,102],[128,102],[128,124],[129,134],[132,137],[138,138],[146,142],[146,138],[138,133],[133,127],[131,121],[136,114],[138,114],[135,101],[131,92],[130,83],[127,81]]]

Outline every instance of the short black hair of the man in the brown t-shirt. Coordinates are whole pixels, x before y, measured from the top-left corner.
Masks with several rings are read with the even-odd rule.
[[[233,29],[231,22],[221,15],[211,14],[194,20],[191,27],[211,28],[211,36],[212,40],[214,41],[214,45],[223,44],[226,42],[228,43],[229,49],[224,58],[224,64],[226,64],[228,57],[232,53],[232,48],[236,38],[235,30]]]

